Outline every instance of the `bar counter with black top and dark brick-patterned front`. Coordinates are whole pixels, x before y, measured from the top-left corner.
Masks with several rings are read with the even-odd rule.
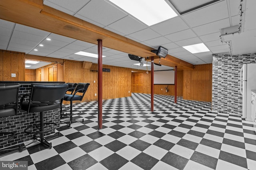
[[[18,90],[18,107],[20,104],[20,99],[24,94],[30,94],[31,92],[31,84],[32,83],[49,83],[49,84],[58,84],[65,82],[14,82],[14,81],[0,81],[0,84],[13,84],[19,83],[20,88]],[[4,97],[4,96],[0,96]],[[28,101],[26,98],[24,101]],[[60,123],[60,109],[49,110],[44,112],[44,122],[54,122]],[[0,149],[11,147],[14,145],[22,144],[26,141],[30,141],[33,139],[32,134],[24,133],[24,129],[28,126],[33,125],[35,123],[40,123],[40,113],[27,113],[26,111],[18,108],[17,115],[0,118],[0,131],[14,132],[16,136],[14,139],[8,141],[8,143],[4,143],[4,145],[0,146]],[[50,131],[45,134],[45,136],[51,135],[55,133],[55,131]]]

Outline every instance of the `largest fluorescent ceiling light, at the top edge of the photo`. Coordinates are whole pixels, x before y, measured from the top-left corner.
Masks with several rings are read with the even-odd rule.
[[[148,26],[174,18],[177,14],[165,0],[109,0]]]

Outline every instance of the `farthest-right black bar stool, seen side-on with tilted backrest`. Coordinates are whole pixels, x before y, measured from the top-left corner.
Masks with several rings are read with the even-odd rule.
[[[82,119],[82,120],[73,119],[72,102],[75,100],[82,101],[84,94],[85,94],[86,90],[88,89],[89,85],[90,85],[90,83],[78,83],[74,94],[65,94],[63,100],[70,101],[70,110],[69,110],[69,113],[66,113],[66,111],[62,111],[62,108],[61,108],[60,113],[61,113],[62,118],[64,118],[64,119],[68,118],[69,120],[63,120],[63,121],[61,121],[61,123],[68,123],[69,127],[70,127],[71,124],[74,122],[84,122],[84,119]],[[78,95],[78,93],[80,93],[81,95]]]

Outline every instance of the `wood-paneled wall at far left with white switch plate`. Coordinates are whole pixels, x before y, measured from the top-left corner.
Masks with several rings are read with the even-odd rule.
[[[15,73],[16,77],[11,74]],[[0,81],[25,80],[25,53],[0,50]]]

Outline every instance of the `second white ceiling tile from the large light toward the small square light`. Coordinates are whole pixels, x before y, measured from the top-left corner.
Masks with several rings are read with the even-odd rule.
[[[184,31],[179,31],[176,33],[165,35],[164,37],[166,37],[174,42],[174,41],[180,41],[183,39],[196,37],[196,34],[191,29],[186,29]]]

